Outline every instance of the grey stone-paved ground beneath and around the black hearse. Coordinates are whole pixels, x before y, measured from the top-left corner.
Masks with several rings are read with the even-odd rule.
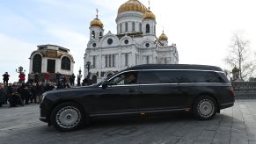
[[[62,133],[40,122],[39,105],[0,107],[0,144],[22,143],[238,143],[256,144],[256,100],[237,100],[215,119],[199,121],[188,113],[132,119],[97,119],[81,130]]]

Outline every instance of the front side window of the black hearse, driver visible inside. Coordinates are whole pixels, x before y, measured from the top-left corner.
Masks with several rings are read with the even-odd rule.
[[[126,85],[126,84],[136,84],[137,83],[137,72],[127,72],[119,76],[115,76],[109,85]]]

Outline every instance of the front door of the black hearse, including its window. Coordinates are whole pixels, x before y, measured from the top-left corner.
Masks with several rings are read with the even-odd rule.
[[[129,76],[134,75],[135,80],[130,81]],[[94,98],[94,113],[121,114],[135,112],[134,101],[140,94],[137,84],[137,72],[124,72],[114,76],[106,82],[106,88],[100,87],[97,98]]]

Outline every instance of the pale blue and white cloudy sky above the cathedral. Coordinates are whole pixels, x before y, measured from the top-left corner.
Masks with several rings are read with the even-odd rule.
[[[70,49],[74,72],[84,67],[89,25],[99,9],[105,33],[116,33],[118,8],[127,0],[2,0],[0,2],[0,74],[29,69],[29,57],[38,45]],[[148,6],[148,0],[140,0]],[[256,51],[255,0],[150,0],[157,17],[157,36],[165,29],[169,44],[176,43],[179,63],[227,68],[233,33],[242,33]],[[83,69],[82,69],[83,70]],[[1,78],[2,79],[2,78]],[[0,81],[2,82],[2,81]]]

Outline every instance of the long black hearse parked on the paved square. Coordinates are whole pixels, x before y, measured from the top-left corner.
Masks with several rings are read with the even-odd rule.
[[[44,93],[40,120],[61,131],[75,130],[90,118],[139,113],[190,111],[205,120],[233,104],[234,92],[221,68],[146,64],[89,87]]]

